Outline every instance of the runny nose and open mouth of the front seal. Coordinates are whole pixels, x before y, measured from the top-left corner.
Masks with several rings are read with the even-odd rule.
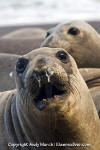
[[[55,72],[50,67],[40,72],[33,71],[33,78],[38,82],[38,94],[34,98],[34,104],[39,110],[65,94],[65,90],[58,88],[57,84],[60,83],[55,82]]]

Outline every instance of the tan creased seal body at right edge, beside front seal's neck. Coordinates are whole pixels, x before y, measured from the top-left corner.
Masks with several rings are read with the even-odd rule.
[[[91,96],[100,117],[100,69],[81,68],[79,71],[90,90]]]

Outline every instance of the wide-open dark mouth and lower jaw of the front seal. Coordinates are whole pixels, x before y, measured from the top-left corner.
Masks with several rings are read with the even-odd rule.
[[[47,82],[39,88],[39,93],[34,98],[34,105],[39,110],[43,110],[51,103],[63,100],[66,94],[66,90],[60,90],[51,82]]]

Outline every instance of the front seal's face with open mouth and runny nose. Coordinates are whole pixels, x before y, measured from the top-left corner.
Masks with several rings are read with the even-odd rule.
[[[16,63],[16,83],[20,95],[25,99],[28,97],[39,110],[65,99],[69,92],[69,60],[65,50],[49,48],[20,57]]]

